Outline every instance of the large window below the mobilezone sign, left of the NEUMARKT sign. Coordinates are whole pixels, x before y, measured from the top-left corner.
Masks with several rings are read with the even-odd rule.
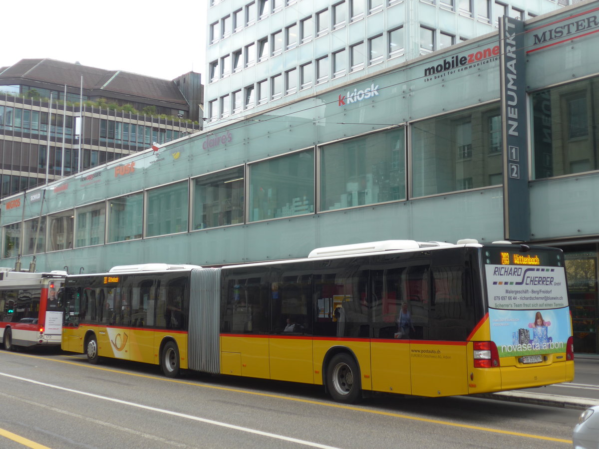
[[[489,117],[498,115],[498,105],[485,105],[414,123],[413,196],[491,185],[503,167],[501,153],[491,152]]]

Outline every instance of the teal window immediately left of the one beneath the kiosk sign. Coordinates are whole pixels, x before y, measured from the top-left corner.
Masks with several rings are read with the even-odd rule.
[[[249,220],[314,212],[314,151],[262,160],[249,166]]]

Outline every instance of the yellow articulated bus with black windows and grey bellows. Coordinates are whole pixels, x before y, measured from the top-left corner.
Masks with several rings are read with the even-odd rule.
[[[451,396],[571,381],[564,255],[394,240],[221,268],[69,275],[62,348],[362,392]]]

